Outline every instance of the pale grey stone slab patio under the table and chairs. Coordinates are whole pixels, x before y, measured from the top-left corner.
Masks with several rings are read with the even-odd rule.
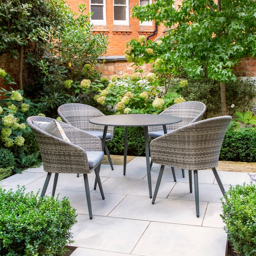
[[[152,190],[160,166],[153,165]],[[218,167],[217,167],[218,170]],[[166,167],[154,205],[148,196],[146,160],[136,157],[127,165],[101,167],[105,200],[93,189],[89,177],[93,219],[89,219],[83,177],[60,174],[56,193],[68,197],[77,209],[78,222],[72,233],[77,247],[72,256],[225,256],[226,232],[220,217],[222,193],[211,170],[199,171],[200,218],[196,218],[194,193],[189,193],[188,171],[185,178],[176,169],[177,182]],[[0,181],[6,189],[24,185],[27,191],[43,187],[46,173],[31,168]],[[247,173],[220,171],[225,189],[230,184],[249,182]],[[52,188],[53,178],[49,188]],[[50,194],[48,189],[47,194]]]

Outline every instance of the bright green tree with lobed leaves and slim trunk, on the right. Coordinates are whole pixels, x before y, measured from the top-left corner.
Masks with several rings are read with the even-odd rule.
[[[232,68],[243,57],[256,55],[256,1],[183,0],[177,9],[174,2],[155,0],[133,8],[133,17],[154,20],[169,30],[158,43],[132,40],[126,54],[139,64],[160,59],[173,75],[217,80],[226,115],[225,83],[236,79]]]

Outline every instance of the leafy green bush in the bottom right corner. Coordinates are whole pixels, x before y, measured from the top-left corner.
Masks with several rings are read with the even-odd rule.
[[[231,185],[222,198],[221,217],[238,254],[256,255],[256,185]]]

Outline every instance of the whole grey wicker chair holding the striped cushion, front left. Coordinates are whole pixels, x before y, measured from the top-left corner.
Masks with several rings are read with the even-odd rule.
[[[28,117],[30,126],[38,142],[42,157],[43,168],[47,172],[41,197],[45,195],[52,173],[54,175],[52,196],[55,194],[59,173],[83,173],[89,217],[92,219],[90,189],[87,174],[93,170],[98,181],[98,186],[105,199],[102,183],[99,176],[100,163],[104,156],[101,140],[94,135],[84,132],[70,124],[56,121],[49,117]],[[49,124],[62,128],[60,134],[52,128],[46,130]],[[64,138],[65,137],[65,138]]]

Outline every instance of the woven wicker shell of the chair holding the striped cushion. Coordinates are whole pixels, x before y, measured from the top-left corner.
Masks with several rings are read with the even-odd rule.
[[[44,132],[33,121],[50,122],[49,117],[28,117],[27,123],[38,142],[43,167],[49,173],[91,173],[86,151],[102,151],[101,140],[70,124],[59,122],[69,142]]]

